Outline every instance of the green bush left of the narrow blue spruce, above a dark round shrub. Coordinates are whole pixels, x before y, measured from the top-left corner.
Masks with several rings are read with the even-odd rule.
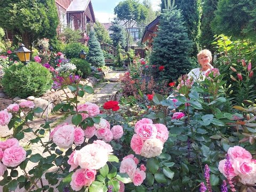
[[[84,50],[84,52],[88,53],[89,48],[81,43],[69,43],[64,47],[64,54],[66,58],[79,58],[79,53]]]

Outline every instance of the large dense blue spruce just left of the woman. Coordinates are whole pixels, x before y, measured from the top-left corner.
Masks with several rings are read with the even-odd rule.
[[[189,52],[192,42],[188,38],[180,10],[163,10],[159,19],[157,36],[154,38],[151,63],[165,67],[166,79],[175,80],[191,69]]]

